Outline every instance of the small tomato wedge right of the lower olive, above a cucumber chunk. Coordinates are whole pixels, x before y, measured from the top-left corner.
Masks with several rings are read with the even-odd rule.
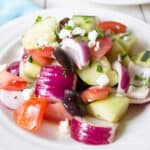
[[[84,103],[89,103],[95,100],[106,98],[111,92],[110,87],[91,87],[81,93],[81,98]]]

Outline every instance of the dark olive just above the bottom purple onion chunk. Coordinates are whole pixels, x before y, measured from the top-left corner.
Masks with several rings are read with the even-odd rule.
[[[81,100],[79,95],[73,90],[65,90],[63,104],[65,109],[72,116],[85,116],[87,114],[86,107],[83,101]]]

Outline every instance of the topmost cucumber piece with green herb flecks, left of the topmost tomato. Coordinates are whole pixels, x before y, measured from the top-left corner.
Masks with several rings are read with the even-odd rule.
[[[78,26],[82,29],[85,29],[86,32],[96,28],[97,20],[95,16],[72,16],[72,20],[75,23],[75,26]]]

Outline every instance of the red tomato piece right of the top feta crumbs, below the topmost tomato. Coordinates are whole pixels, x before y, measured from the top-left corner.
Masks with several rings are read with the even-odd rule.
[[[90,54],[92,58],[99,60],[105,56],[113,47],[112,40],[108,37],[103,37],[102,39],[97,40],[99,45],[90,49]]]

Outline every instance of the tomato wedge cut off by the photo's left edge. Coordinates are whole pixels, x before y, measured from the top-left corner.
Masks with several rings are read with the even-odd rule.
[[[27,87],[27,81],[6,70],[0,72],[0,89],[20,91]]]

